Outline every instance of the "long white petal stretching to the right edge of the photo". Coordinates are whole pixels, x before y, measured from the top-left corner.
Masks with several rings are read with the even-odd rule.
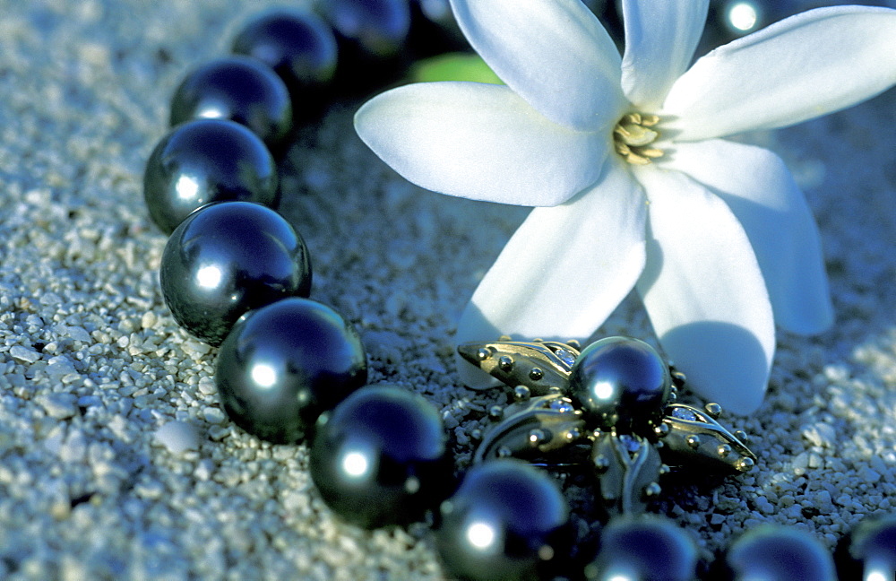
[[[694,141],[789,126],[874,97],[896,82],[896,10],[820,8],[698,60],[661,116]]]

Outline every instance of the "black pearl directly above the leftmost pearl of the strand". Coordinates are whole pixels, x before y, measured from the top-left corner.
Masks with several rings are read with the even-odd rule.
[[[171,125],[191,119],[229,119],[264,143],[280,144],[292,127],[286,84],[271,67],[249,56],[228,56],[187,74],[171,100]]]

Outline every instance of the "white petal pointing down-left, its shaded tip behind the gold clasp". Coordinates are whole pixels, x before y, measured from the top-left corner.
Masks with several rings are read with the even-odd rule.
[[[646,215],[641,187],[616,160],[582,195],[533,210],[473,293],[457,342],[590,336],[642,272]],[[469,386],[485,377],[459,369]]]

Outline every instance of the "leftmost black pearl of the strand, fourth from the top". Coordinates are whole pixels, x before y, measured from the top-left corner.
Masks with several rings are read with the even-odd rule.
[[[143,197],[152,221],[166,234],[197,208],[242,200],[279,201],[277,166],[264,143],[246,127],[202,119],[175,127],[156,145],[143,174]]]

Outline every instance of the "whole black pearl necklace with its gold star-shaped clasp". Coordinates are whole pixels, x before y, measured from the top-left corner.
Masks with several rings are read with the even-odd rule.
[[[845,536],[836,561],[806,533],[777,526],[745,533],[711,561],[671,520],[640,514],[669,465],[737,474],[756,460],[742,432],[716,421],[717,405],[676,403],[685,377],[647,343],[610,337],[580,350],[502,338],[459,346],[513,394],[492,411],[495,423],[461,478],[431,403],[400,386],[365,385],[357,331],[310,298],[311,257],[275,210],[275,159],[323,101],[391,80],[407,64],[406,38],[428,34],[452,46],[455,32],[437,26],[444,13],[421,20],[432,10],[423,4],[330,0],[326,20],[263,13],[237,33],[233,56],[196,68],[177,88],[172,128],[147,161],[144,197],[170,234],[159,273],[165,302],[188,333],[220,346],[214,379],[229,419],[273,443],[305,441],[316,490],[343,520],[367,529],[431,520],[452,577],[896,575],[892,516]],[[440,34],[421,33],[426,27]],[[359,64],[364,75],[351,70]],[[593,477],[607,520],[596,553],[573,551],[569,503],[533,464],[584,467]]]

